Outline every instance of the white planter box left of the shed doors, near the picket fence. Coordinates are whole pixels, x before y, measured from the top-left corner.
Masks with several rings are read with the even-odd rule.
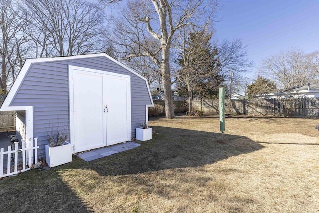
[[[61,164],[72,161],[72,146],[69,142],[64,142],[63,145],[50,147],[45,145],[45,158],[49,167],[56,167]]]

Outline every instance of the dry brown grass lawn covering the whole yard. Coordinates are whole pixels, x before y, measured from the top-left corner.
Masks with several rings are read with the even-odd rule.
[[[318,120],[154,119],[135,149],[0,181],[0,212],[319,212]]]

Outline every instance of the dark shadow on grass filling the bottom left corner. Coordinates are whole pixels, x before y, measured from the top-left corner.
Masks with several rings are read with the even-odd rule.
[[[79,165],[35,169],[0,180],[0,212],[92,212],[59,175],[69,166]]]

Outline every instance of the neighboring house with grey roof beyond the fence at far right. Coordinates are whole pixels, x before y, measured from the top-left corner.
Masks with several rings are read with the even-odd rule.
[[[293,87],[285,92],[276,92],[263,95],[255,95],[254,98],[319,98],[319,83]]]

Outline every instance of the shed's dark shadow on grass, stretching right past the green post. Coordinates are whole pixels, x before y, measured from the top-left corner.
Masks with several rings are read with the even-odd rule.
[[[264,146],[244,136],[152,126],[152,140],[140,147],[99,159],[89,166],[101,176],[199,167],[254,152]]]

